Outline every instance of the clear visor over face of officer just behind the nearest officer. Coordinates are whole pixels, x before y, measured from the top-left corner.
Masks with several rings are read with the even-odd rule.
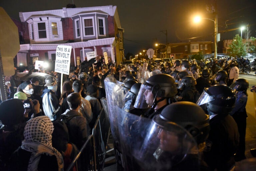
[[[145,109],[149,106],[152,106],[155,99],[152,90],[153,88],[151,86],[142,84],[139,90],[139,94],[136,97],[134,107],[138,109]]]

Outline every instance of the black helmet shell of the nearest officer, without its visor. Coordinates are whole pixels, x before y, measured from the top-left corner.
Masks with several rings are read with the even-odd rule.
[[[200,106],[192,102],[169,104],[153,118],[153,122],[166,130],[168,130],[169,123],[174,122],[185,128],[194,137],[197,144],[203,143],[208,138],[210,131],[209,116]]]

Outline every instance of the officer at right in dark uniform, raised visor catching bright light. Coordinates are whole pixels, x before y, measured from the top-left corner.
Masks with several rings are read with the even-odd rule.
[[[235,101],[235,93],[224,85],[205,88],[197,101],[198,105],[206,105],[210,115],[211,130],[206,140],[204,160],[211,170],[228,171],[235,164],[239,133],[235,120],[230,116]]]

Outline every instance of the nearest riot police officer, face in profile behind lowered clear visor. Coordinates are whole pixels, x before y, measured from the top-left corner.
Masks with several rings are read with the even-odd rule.
[[[209,116],[198,105],[172,103],[152,119],[135,156],[137,162],[149,171],[208,170],[200,159],[200,151],[209,130]]]

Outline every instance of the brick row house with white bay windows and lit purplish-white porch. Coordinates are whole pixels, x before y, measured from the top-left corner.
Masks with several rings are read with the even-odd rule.
[[[123,32],[116,6],[62,8],[20,12],[18,27],[20,51],[17,66],[30,66],[36,60],[55,61],[58,45],[72,46],[71,66],[76,57],[87,60],[86,52],[95,51],[116,64],[124,57]]]

